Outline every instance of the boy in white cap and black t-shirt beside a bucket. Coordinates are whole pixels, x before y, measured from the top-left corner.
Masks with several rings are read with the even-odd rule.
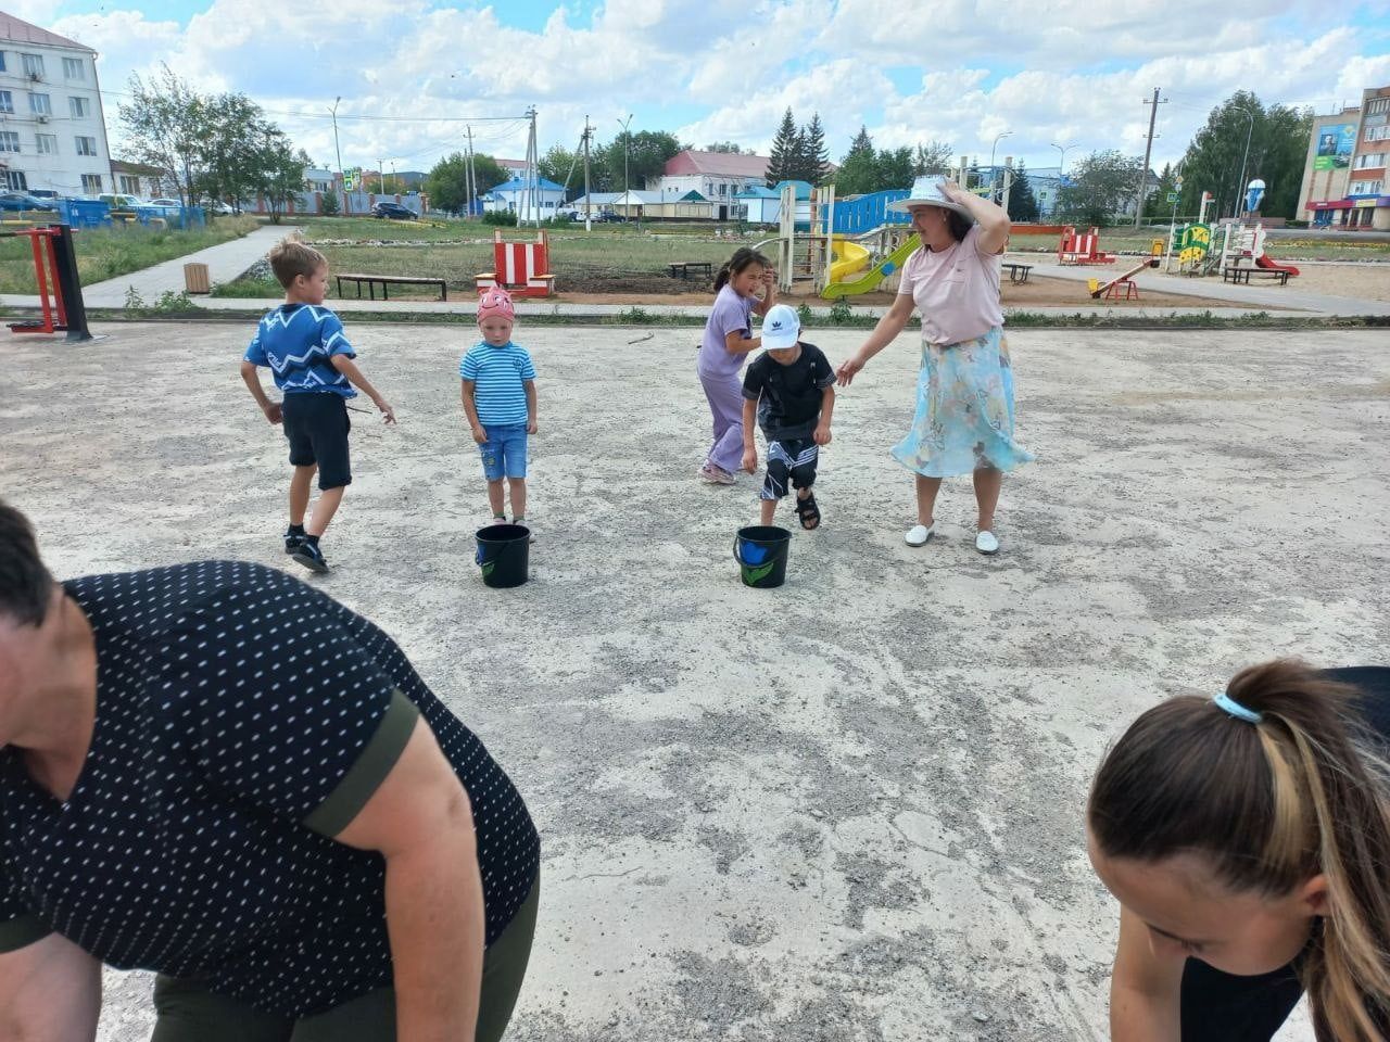
[[[835,371],[812,343],[801,340],[795,308],[777,304],[763,318],[763,353],[744,375],[744,470],[758,471],[753,414],[767,438],[767,477],[759,493],[762,522],[770,525],[777,500],[796,489],[801,527],[820,524],[810,488],[816,483],[820,446],[830,445],[830,414],[835,408]]]

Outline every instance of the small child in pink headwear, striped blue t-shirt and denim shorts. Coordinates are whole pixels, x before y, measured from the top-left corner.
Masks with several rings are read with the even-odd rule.
[[[463,414],[482,454],[492,518],[506,521],[502,478],[512,488],[512,520],[525,524],[525,449],[535,433],[535,367],[525,347],[512,343],[516,308],[505,289],[478,300],[482,340],[459,363]]]

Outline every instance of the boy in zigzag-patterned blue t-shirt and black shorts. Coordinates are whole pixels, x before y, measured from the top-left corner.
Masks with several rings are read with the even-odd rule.
[[[343,490],[352,482],[348,461],[348,399],[353,385],[373,400],[385,417],[396,414],[361,375],[353,358],[357,353],[343,336],[343,324],[324,307],[328,292],[328,261],[314,247],[288,238],[270,251],[270,267],[285,288],[285,303],[261,318],[242,360],[242,379],[272,424],[284,422],[289,439],[289,528],[285,553],[310,571],[328,571],[318,546],[332,521]],[[268,365],[282,402],[271,402],[261,388],[257,365]],[[304,525],[310,482],[318,471],[318,502]]]

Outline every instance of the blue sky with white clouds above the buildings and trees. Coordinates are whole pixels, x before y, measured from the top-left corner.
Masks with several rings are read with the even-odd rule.
[[[167,63],[204,90],[260,103],[316,161],[428,169],[460,147],[575,147],[632,117],[706,144],[764,151],[791,106],[819,111],[838,160],[865,124],[878,146],[1070,164],[1141,154],[1154,88],[1155,163],[1182,154],[1237,89],[1330,111],[1390,85],[1390,0],[7,0],[4,10],[100,53],[106,110],[132,72]]]

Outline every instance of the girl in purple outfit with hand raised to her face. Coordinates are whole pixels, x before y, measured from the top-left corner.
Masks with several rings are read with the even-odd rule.
[[[763,290],[762,297],[755,290]],[[753,336],[752,315],[763,315],[777,303],[777,272],[763,254],[739,247],[714,276],[714,307],[705,322],[699,346],[701,386],[714,415],[714,445],[699,477],[714,485],[733,485],[744,461],[744,383],[738,371],[744,358],[762,346]]]

